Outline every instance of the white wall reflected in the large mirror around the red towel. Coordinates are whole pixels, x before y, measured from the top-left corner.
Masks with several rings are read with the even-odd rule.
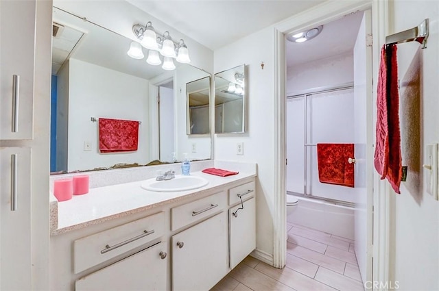
[[[150,162],[147,79],[88,64],[69,61],[69,154],[68,168],[87,170],[117,163]],[[141,121],[139,148],[127,153],[99,153],[98,123],[95,118]],[[91,151],[84,151],[84,141]]]

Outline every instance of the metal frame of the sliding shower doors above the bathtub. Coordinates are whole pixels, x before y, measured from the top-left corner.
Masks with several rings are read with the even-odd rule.
[[[308,116],[308,97],[311,97],[312,95],[315,94],[322,94],[322,93],[329,93],[329,92],[337,92],[337,91],[341,91],[341,90],[349,90],[354,88],[354,84],[353,82],[349,82],[349,83],[345,83],[345,84],[339,84],[337,86],[322,86],[322,87],[317,87],[317,88],[312,88],[309,90],[305,90],[300,92],[299,94],[294,94],[294,95],[290,95],[287,96],[287,99],[296,99],[296,98],[303,98],[305,99],[305,105],[303,107],[303,111],[304,111],[304,131],[303,131],[303,140],[304,140],[304,162],[303,162],[303,193],[298,193],[298,192],[290,192],[287,191],[287,194],[292,194],[294,196],[298,196],[298,197],[306,197],[309,199],[316,199],[316,200],[320,200],[320,201],[326,201],[328,203],[331,204],[335,204],[335,205],[341,205],[341,206],[346,206],[346,207],[355,207],[355,203],[353,202],[348,202],[348,201],[343,201],[343,200],[338,200],[338,199],[331,199],[331,198],[327,198],[327,197],[320,197],[320,196],[316,196],[311,194],[312,193],[312,188],[311,185],[309,185],[309,189],[308,189],[308,147],[316,147],[317,144],[311,144],[308,143],[308,120],[311,120],[312,118],[312,111],[309,112],[309,114],[311,114],[310,116]],[[312,108],[311,108],[312,110]],[[311,166],[310,166],[311,167]],[[310,177],[311,179],[311,177]],[[311,184],[311,183],[310,183]]]

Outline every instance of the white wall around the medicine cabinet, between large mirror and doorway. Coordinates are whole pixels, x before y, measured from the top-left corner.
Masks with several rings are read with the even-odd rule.
[[[261,41],[263,40],[263,41]],[[215,160],[256,162],[257,249],[273,254],[274,217],[274,34],[263,29],[215,51],[215,72],[246,64],[248,85],[246,134],[216,135]],[[251,48],[251,49],[249,49]],[[261,61],[265,66],[261,69]],[[237,142],[244,142],[244,155],[236,155]]]

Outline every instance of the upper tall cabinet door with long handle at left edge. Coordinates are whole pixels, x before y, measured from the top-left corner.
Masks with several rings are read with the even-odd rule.
[[[0,1],[0,140],[32,139],[35,14],[36,1]]]

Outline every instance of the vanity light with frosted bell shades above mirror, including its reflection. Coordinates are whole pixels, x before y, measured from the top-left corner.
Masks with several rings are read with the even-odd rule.
[[[148,58],[146,62],[154,66],[161,64],[161,55],[163,55],[163,66],[162,68],[167,71],[174,70],[176,68],[174,60],[182,64],[189,64],[191,59],[189,58],[189,51],[184,40],[180,40],[176,44],[169,31],[165,31],[163,35],[158,34],[152,23],[148,21],[146,25],[136,24],[132,27],[132,32],[136,36],[138,41],[131,42],[130,50],[128,55],[134,59],[144,58],[142,47],[148,49]]]

